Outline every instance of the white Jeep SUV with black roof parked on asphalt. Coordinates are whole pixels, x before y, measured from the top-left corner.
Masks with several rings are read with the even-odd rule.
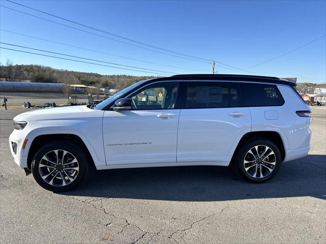
[[[96,169],[232,165],[253,182],[308,154],[311,112],[295,83],[266,76],[177,75],[140,81],[97,106],[14,118],[10,148],[26,174],[66,191]]]

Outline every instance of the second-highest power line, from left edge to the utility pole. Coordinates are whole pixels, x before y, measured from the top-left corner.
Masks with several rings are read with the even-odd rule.
[[[59,23],[59,22],[56,22],[56,21],[53,21],[53,20],[45,19],[45,18],[36,16],[36,15],[33,15],[33,14],[25,13],[25,12],[22,12],[22,11],[19,11],[19,10],[16,10],[16,9],[12,9],[12,8],[9,8],[9,7],[3,6],[3,5],[0,5],[0,6],[3,7],[3,8],[6,8],[6,9],[10,9],[10,10],[16,11],[18,13],[22,13],[22,14],[29,15],[29,16],[32,16],[32,17],[35,17],[35,18],[39,18],[39,19],[43,19],[43,20],[48,21],[48,22],[51,22],[51,23],[56,23],[56,24],[60,24],[60,25],[63,25],[63,26],[72,28],[72,29],[76,29],[77,31],[81,31],[81,32],[85,32],[85,33],[88,33],[88,34],[91,34],[91,35],[94,35],[94,36],[106,38],[108,40],[113,40],[113,41],[116,41],[116,42],[124,43],[124,44],[130,45],[130,46],[139,47],[139,48],[142,48],[142,49],[145,49],[145,50],[149,50],[149,51],[152,51],[152,52],[157,52],[157,53],[161,53],[161,54],[165,54],[165,55],[169,55],[169,56],[174,56],[174,57],[179,57],[179,58],[183,58],[183,59],[193,60],[193,61],[201,62],[201,63],[205,63],[205,64],[208,63],[208,62],[205,62],[205,61],[202,61],[202,60],[198,60],[198,59],[194,59],[194,58],[181,57],[181,56],[173,55],[173,54],[170,54],[170,53],[160,52],[160,51],[156,51],[156,50],[149,49],[149,48],[146,48],[146,47],[141,47],[141,46],[134,45],[134,44],[131,44],[131,43],[127,43],[127,42],[123,42],[123,41],[120,41],[120,40],[116,40],[116,39],[113,39],[113,38],[110,38],[110,37],[105,37],[105,36],[102,36],[102,35],[99,35],[99,34],[96,34],[96,33],[93,33],[93,32],[88,32],[88,31],[85,31],[84,29],[79,29],[79,28],[76,28],[76,27],[73,27],[73,26],[70,26],[70,25],[67,25],[67,24],[62,24],[62,23]]]

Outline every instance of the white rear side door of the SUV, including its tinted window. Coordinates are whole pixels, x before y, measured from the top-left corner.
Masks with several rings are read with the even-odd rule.
[[[181,109],[177,162],[228,165],[240,134],[250,132],[251,115],[242,107],[237,83],[188,81],[186,108]]]

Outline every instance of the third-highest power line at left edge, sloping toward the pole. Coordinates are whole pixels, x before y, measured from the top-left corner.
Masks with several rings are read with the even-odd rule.
[[[0,29],[0,31],[7,32],[7,33],[12,33],[12,34],[23,36],[23,37],[34,38],[34,39],[42,40],[42,41],[46,41],[46,42],[51,42],[51,43],[56,43],[56,44],[60,44],[60,45],[65,45],[65,46],[69,46],[69,47],[79,48],[79,49],[83,49],[83,50],[87,50],[87,51],[102,53],[102,54],[106,54],[106,55],[110,55],[110,56],[116,56],[116,57],[126,58],[126,59],[130,59],[130,60],[134,60],[134,61],[138,61],[138,62],[143,62],[143,63],[147,63],[147,64],[159,65],[159,66],[166,66],[166,67],[176,68],[176,69],[182,69],[182,70],[199,71],[199,70],[194,70],[194,69],[189,69],[189,68],[183,68],[183,67],[177,67],[177,66],[171,66],[171,65],[162,65],[162,64],[153,63],[153,62],[147,62],[147,61],[140,60],[140,59],[135,59],[135,58],[130,58],[130,57],[124,57],[124,56],[120,56],[120,55],[116,55],[116,54],[112,54],[112,53],[107,53],[107,52],[102,52],[102,51],[98,51],[98,50],[93,50],[93,49],[89,49],[89,48],[84,48],[84,47],[78,47],[78,46],[74,46],[74,45],[70,45],[70,44],[66,44],[66,43],[62,43],[62,42],[50,41],[50,40],[39,38],[39,37],[33,37],[33,36],[21,34],[21,33],[7,31],[6,29]]]

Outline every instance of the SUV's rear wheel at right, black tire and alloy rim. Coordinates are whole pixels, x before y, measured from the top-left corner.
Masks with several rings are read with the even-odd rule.
[[[252,182],[273,178],[281,166],[279,148],[266,139],[256,139],[243,146],[236,155],[238,172]]]

